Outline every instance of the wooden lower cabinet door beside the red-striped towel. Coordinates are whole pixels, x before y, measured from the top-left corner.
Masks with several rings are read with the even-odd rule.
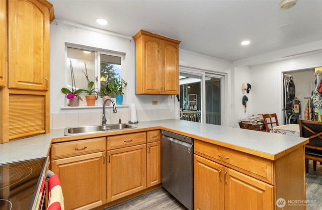
[[[51,161],[59,176],[65,209],[90,209],[106,203],[105,153]]]

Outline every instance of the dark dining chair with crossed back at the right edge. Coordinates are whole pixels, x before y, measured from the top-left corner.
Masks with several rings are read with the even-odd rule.
[[[305,145],[305,171],[308,173],[308,160],[313,160],[313,170],[316,161],[322,162],[322,122],[299,120],[300,137],[309,139]]]

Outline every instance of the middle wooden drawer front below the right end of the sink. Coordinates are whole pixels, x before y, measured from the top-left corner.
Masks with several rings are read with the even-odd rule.
[[[117,149],[146,143],[146,133],[122,134],[107,137],[107,149]]]

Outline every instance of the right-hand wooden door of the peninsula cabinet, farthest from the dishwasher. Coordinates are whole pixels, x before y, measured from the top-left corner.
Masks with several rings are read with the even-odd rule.
[[[273,186],[225,168],[225,210],[274,209]]]

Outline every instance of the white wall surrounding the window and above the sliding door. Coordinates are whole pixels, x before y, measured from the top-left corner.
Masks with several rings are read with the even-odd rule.
[[[71,126],[99,125],[102,121],[102,108],[69,108],[63,109],[65,96],[60,91],[66,82],[65,43],[84,45],[121,52],[125,54],[125,75],[122,77],[128,82],[125,89],[125,104],[136,103],[137,120],[151,121],[173,119],[175,116],[175,101],[173,95],[135,95],[134,74],[135,54],[134,41],[131,37],[106,32],[75,23],[55,19],[50,25],[50,114],[51,129]],[[229,72],[231,63],[212,57],[207,57],[180,49],[179,65],[192,68],[206,69],[207,71],[223,72],[231,84]],[[227,91],[230,88],[227,88]],[[157,106],[152,106],[152,100],[157,100]],[[228,100],[231,103],[231,99]],[[97,101],[97,103],[101,103]],[[130,120],[128,107],[119,107],[118,113],[113,114],[107,109],[108,123],[117,123],[121,118],[123,122]],[[230,122],[230,120],[229,120]]]

